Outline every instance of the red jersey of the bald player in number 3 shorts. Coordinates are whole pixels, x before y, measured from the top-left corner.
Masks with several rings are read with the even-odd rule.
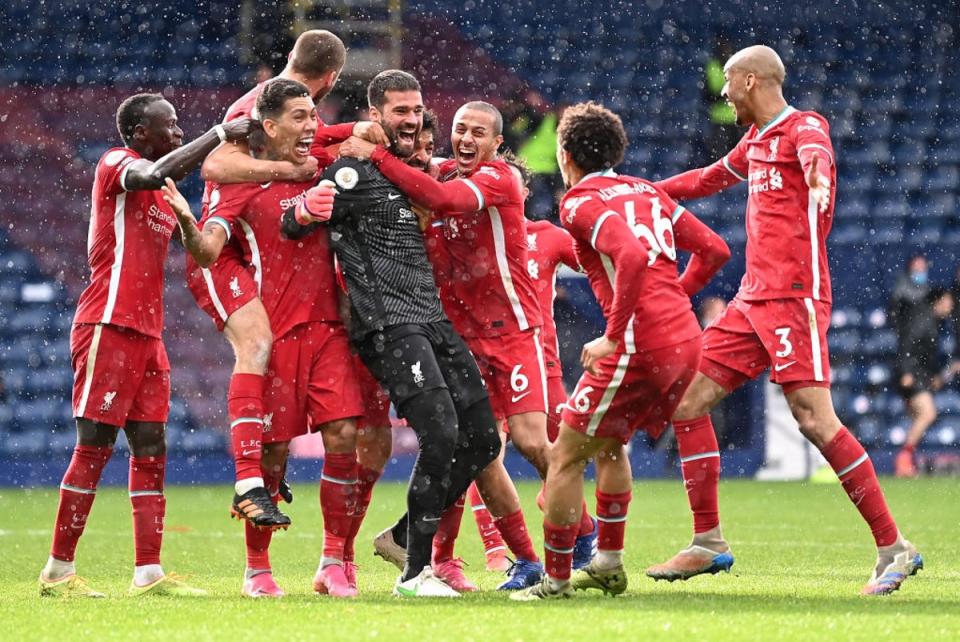
[[[821,213],[810,197],[800,155],[829,160],[830,204]],[[831,300],[827,235],[833,225],[837,163],[830,126],[820,114],[787,106],[758,129],[750,127],[723,165],[748,181],[747,269],[741,299]],[[820,170],[827,173],[827,164]]]

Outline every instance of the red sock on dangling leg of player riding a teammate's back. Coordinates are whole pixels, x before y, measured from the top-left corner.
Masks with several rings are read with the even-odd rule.
[[[237,480],[260,477],[263,375],[237,373],[230,377],[227,417]]]

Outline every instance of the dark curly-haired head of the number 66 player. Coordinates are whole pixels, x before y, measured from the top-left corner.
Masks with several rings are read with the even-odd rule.
[[[615,113],[595,102],[568,107],[557,125],[557,143],[586,173],[612,169],[623,162],[627,132]]]

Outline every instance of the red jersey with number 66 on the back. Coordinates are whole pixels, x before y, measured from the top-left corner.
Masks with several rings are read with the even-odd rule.
[[[601,238],[604,223],[610,217],[620,217],[626,222],[623,232],[632,231],[647,251],[647,267],[641,276],[636,306],[632,311],[623,311],[632,312],[621,343],[628,354],[674,345],[700,334],[700,324],[677,274],[673,224],[685,212],[651,183],[613,171],[584,177],[560,203],[560,219],[573,236],[577,259],[603,309],[608,331],[615,322],[614,282],[618,266],[610,255],[598,249],[604,247],[601,240],[607,242]],[[611,338],[620,340],[619,336]]]

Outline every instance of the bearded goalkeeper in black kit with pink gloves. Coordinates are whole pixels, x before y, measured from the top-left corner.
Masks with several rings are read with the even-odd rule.
[[[370,113],[400,158],[413,154],[423,122],[420,85],[389,70],[368,87]],[[417,435],[407,492],[407,563],[394,594],[458,597],[430,565],[434,533],[499,453],[496,420],[476,361],[444,314],[410,202],[369,161],[343,158],[282,218],[284,235],[315,228],[330,242],[347,283],[351,341]],[[456,461],[456,465],[453,462]]]

